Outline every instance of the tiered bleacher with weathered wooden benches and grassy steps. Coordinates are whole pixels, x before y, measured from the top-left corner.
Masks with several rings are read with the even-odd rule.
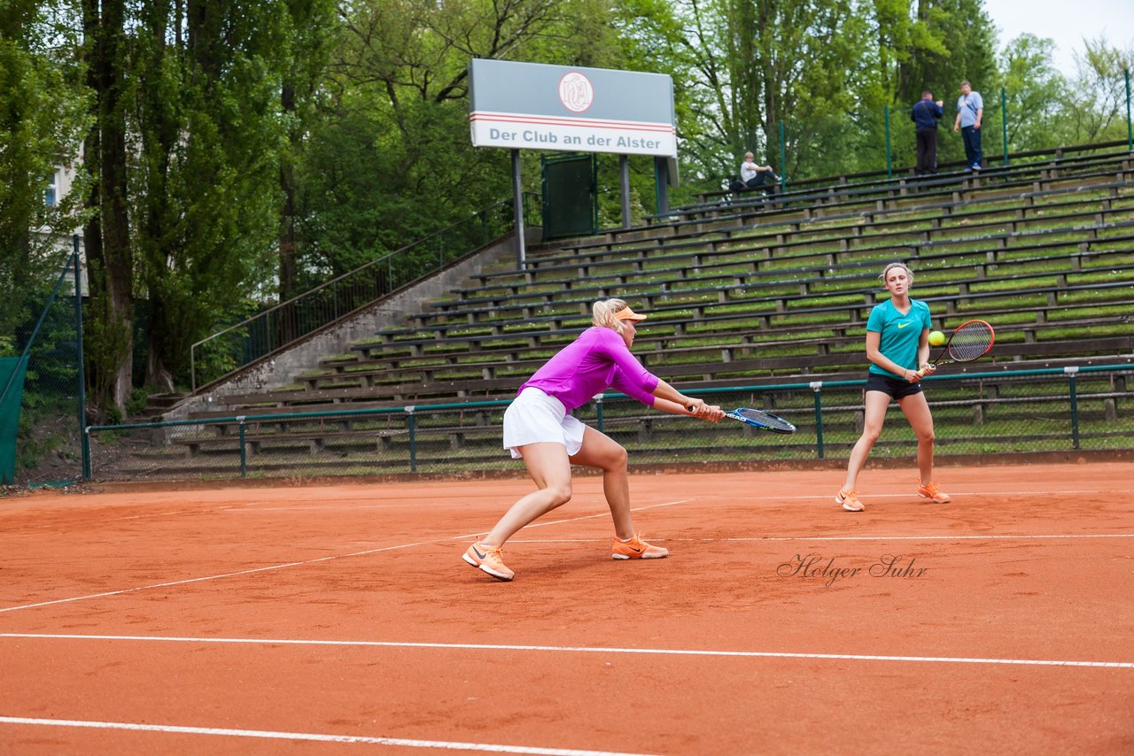
[[[680,387],[857,379],[865,317],[885,294],[877,274],[892,260],[914,270],[912,295],[930,304],[934,328],[970,317],[997,326],[982,369],[1129,362],[1134,160],[1075,155],[916,181],[704,197],[646,226],[530,250],[524,270],[484,270],[404,326],[327,356],[290,385],[219,396],[215,409],[191,417],[507,399],[590,324],[591,304],[609,296],[650,314],[634,351]],[[466,453],[481,441],[497,452],[498,421],[489,415],[441,430]],[[640,435],[666,426],[641,413],[626,417]],[[404,441],[388,419],[249,430],[261,455]],[[202,433],[183,439],[184,448],[220,448],[232,427]]]

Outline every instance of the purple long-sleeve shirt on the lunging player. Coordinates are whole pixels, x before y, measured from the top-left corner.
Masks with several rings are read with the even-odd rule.
[[[595,326],[560,349],[519,391],[528,387],[555,397],[567,411],[582,407],[608,387],[653,407],[658,379],[642,367],[617,331]]]

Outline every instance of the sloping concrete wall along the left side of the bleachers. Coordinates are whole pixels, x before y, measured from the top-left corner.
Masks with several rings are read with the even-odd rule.
[[[540,243],[543,230],[536,227],[525,231],[527,248],[531,249]],[[438,274],[376,300],[350,320],[304,337],[285,351],[253,363],[221,383],[198,391],[170,408],[162,415],[162,419],[187,419],[191,413],[225,409],[220,404],[221,397],[257,393],[293,383],[299,373],[318,368],[319,360],[323,357],[346,354],[353,342],[367,339],[381,329],[404,328],[406,315],[424,312],[425,303],[430,299],[439,298],[454,287],[465,283],[469,275],[481,272],[490,263],[515,260],[515,255],[514,235],[503,237],[450,263]]]

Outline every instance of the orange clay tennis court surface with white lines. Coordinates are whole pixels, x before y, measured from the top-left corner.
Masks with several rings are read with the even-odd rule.
[[[0,751],[1134,753],[1134,465],[0,501]],[[802,562],[802,564],[801,564]]]

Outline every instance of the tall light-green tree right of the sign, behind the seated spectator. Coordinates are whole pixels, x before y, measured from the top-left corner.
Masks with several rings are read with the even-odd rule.
[[[704,171],[735,173],[746,150],[778,163],[781,122],[788,164],[780,170],[828,170],[845,152],[831,147],[847,134],[866,44],[852,0],[686,0],[682,10],[700,114],[713,125],[716,155],[703,154]]]

